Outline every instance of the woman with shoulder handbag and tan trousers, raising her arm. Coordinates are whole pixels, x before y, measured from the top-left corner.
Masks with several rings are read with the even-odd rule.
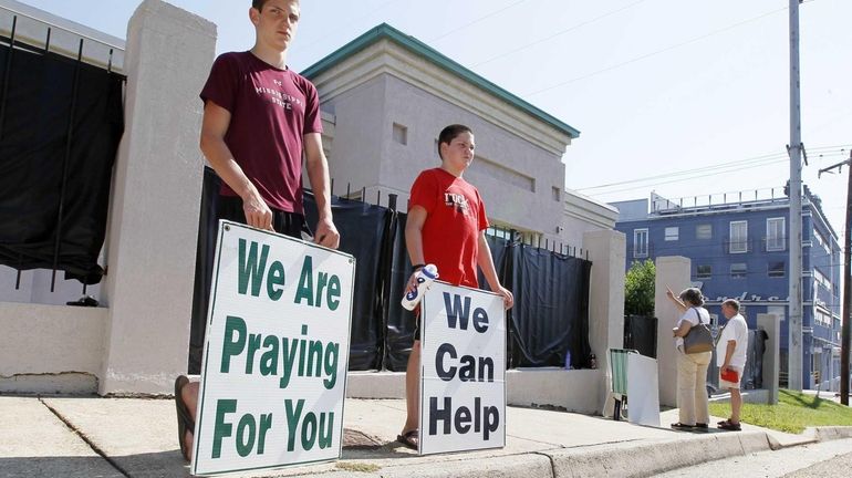
[[[680,314],[672,329],[677,346],[677,406],[679,422],[672,424],[678,430],[706,432],[709,422],[707,406],[707,367],[713,358],[710,314],[703,308],[702,291],[689,288],[677,297],[666,288],[666,295]]]

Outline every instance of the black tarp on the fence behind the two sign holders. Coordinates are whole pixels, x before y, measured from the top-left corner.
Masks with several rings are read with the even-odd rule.
[[[205,200],[216,191],[211,172],[205,174]],[[308,224],[316,222],[313,196],[305,194]],[[414,315],[399,304],[411,274],[405,248],[404,214],[362,201],[332,198],[340,250],[356,259],[350,370],[405,371],[414,342]],[[215,214],[201,207],[199,258],[215,249]],[[508,366],[562,365],[567,350],[574,367],[589,366],[589,274],[591,262],[517,241],[488,237],[501,283],[512,290],[509,311]],[[209,273],[197,268],[196,298],[209,290]],[[201,278],[198,278],[201,276]],[[205,279],[208,278],[208,279]],[[480,277],[480,285],[487,283]],[[189,372],[200,370],[207,308],[193,308]]]

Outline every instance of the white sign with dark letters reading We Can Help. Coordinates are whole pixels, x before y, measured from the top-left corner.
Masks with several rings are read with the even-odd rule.
[[[420,305],[422,455],[506,446],[506,311],[435,282]]]

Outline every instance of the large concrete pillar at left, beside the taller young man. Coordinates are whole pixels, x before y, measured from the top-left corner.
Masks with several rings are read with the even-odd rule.
[[[127,28],[101,394],[167,393],[186,372],[202,170],[198,92],[215,42],[212,23],[159,0],[145,0]]]

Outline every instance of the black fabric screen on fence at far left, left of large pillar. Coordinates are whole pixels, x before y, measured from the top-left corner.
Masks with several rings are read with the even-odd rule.
[[[112,168],[124,131],[124,77],[56,54],[10,53],[2,45],[3,77],[0,263],[52,269],[59,237],[56,268],[66,278],[97,283]]]

